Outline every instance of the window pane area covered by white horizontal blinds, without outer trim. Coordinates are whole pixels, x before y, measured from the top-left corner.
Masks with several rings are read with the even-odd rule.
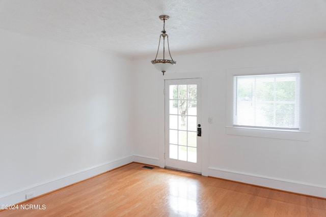
[[[300,128],[300,73],[233,76],[233,126]]]

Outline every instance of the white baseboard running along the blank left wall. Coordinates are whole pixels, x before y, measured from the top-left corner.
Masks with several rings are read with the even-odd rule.
[[[74,173],[67,174],[62,177],[57,177],[53,180],[49,180],[44,183],[38,183],[32,187],[19,189],[7,195],[1,195],[0,204],[5,204],[5,205],[17,204],[26,200],[25,195],[31,192],[34,192],[34,197],[37,197],[45,193],[51,192],[53,190],[66,187],[67,185],[73,184],[75,182],[85,180],[87,178],[106,172],[108,170],[112,170],[117,167],[129,164],[131,162],[133,162],[133,156],[126,156],[120,159],[115,159],[110,162],[106,162],[100,165],[96,165],[90,168],[76,171]]]

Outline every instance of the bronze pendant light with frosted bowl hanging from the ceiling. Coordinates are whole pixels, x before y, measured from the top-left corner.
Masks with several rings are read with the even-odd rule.
[[[159,19],[163,20],[163,30],[161,30],[161,35],[159,36],[159,41],[158,41],[158,48],[157,48],[157,53],[155,56],[155,59],[151,61],[151,63],[154,65],[154,67],[161,71],[164,75],[164,73],[170,69],[173,65],[176,65],[177,62],[175,60],[173,60],[171,53],[170,53],[170,46],[169,46],[169,36],[165,30],[165,21],[168,20],[170,17],[168,15],[160,15]],[[156,59],[157,58],[157,54],[159,51],[159,45],[161,42],[161,38],[163,37],[163,59]],[[167,41],[168,41],[168,50],[169,50],[169,55],[171,59],[166,59],[165,58],[165,37],[167,37]]]

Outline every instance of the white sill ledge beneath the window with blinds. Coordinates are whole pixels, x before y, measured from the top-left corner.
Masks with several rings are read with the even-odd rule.
[[[309,141],[310,133],[302,131],[283,131],[270,129],[254,129],[241,127],[226,127],[226,134],[237,136],[262,137],[273,139],[287,139],[297,141]]]

